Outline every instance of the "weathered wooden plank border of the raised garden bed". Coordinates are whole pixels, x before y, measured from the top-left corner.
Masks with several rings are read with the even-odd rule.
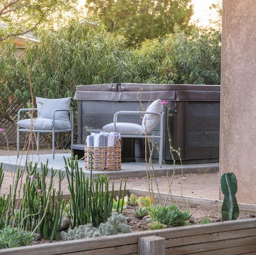
[[[148,192],[141,190],[130,190],[129,193],[147,195]],[[165,200],[164,193],[161,200]],[[183,203],[181,196],[172,196],[175,203]],[[221,201],[196,199],[185,197],[186,202],[196,210],[199,207],[211,209],[220,208]],[[170,204],[171,198],[168,200]],[[250,213],[256,211],[255,205],[239,204],[241,211]],[[143,238],[146,236],[156,236]],[[159,238],[162,237],[162,238]],[[145,241],[146,240],[146,241]],[[146,244],[145,244],[146,243]],[[143,245],[142,245],[143,244]],[[155,231],[140,231],[130,234],[97,237],[76,241],[63,241],[58,243],[39,244],[21,248],[1,250],[4,255],[61,255],[61,254],[143,254],[142,246],[150,247],[158,244],[165,253],[161,254],[253,254],[256,251],[256,219],[241,219],[224,221],[204,225],[193,225],[185,227],[172,227]],[[146,248],[147,248],[146,247]],[[138,252],[138,250],[140,252]],[[160,254],[160,253],[151,253]]]

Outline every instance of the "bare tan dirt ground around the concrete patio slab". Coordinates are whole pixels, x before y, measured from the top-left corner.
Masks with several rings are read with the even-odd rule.
[[[55,150],[55,153],[65,153],[69,152],[68,150]],[[16,155],[14,150],[3,150],[0,149],[0,156],[2,155]],[[51,150],[44,149],[40,150],[41,154],[51,153]],[[9,186],[12,183],[14,173],[5,171],[4,181],[0,194],[3,194],[5,191],[9,190]],[[126,189],[129,188],[139,188],[140,190],[149,190],[151,188],[151,183],[146,177],[144,178],[127,178],[126,179]],[[184,176],[175,175],[173,179],[171,176],[160,176],[156,177],[152,182],[153,191],[157,191],[156,183],[160,192],[168,192],[170,183],[171,192],[174,195],[185,195],[185,196],[194,196],[197,198],[205,199],[219,199],[219,175],[214,174],[188,174]],[[115,190],[119,188],[119,180],[114,180]],[[62,183],[62,189],[64,194],[68,194],[68,185],[67,179],[65,178]]]

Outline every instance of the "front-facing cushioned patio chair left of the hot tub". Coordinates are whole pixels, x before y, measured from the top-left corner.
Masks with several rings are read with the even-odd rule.
[[[71,132],[71,145],[74,137],[74,113],[69,109],[71,97],[48,99],[36,97],[37,108],[25,108],[18,111],[17,122],[17,157],[20,152],[20,132],[37,133],[37,150],[39,153],[39,133],[52,133],[52,158],[54,159],[55,133]],[[21,112],[37,112],[37,118],[20,120]],[[34,114],[34,113],[33,113]],[[32,115],[33,116],[33,115]],[[31,117],[31,113],[30,113]]]

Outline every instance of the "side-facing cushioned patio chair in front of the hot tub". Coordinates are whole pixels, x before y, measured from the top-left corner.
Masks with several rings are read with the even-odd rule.
[[[146,111],[118,111],[114,115],[114,122],[104,126],[105,132],[117,132],[122,138],[158,138],[159,139],[159,167],[162,168],[163,158],[163,104],[160,99],[151,103]],[[122,116],[143,116],[142,125],[130,122],[118,122]],[[155,134],[154,128],[160,121],[160,131]]]

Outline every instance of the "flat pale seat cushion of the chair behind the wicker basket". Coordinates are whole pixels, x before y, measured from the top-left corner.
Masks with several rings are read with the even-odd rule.
[[[105,132],[113,132],[114,131],[114,123],[110,123],[104,127],[102,127]],[[121,135],[144,135],[145,131],[141,125],[128,123],[128,122],[117,122],[116,123],[116,132]]]

